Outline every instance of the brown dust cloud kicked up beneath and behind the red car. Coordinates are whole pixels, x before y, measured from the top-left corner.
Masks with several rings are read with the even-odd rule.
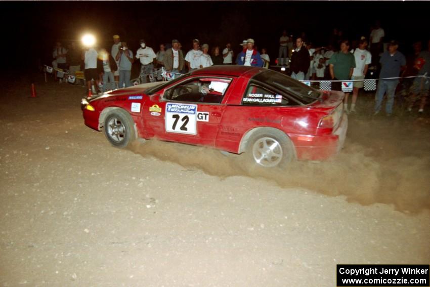
[[[135,143],[132,150],[220,178],[257,177],[285,188],[343,195],[364,205],[392,204],[405,213],[430,209],[428,120],[350,117],[345,147],[335,158],[297,161],[284,170],[255,169],[245,164],[243,155],[157,140]]]

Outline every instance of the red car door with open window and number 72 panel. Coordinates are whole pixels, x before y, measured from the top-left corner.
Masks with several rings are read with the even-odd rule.
[[[191,77],[167,88],[148,103],[147,130],[162,140],[214,146],[230,82],[229,78]]]

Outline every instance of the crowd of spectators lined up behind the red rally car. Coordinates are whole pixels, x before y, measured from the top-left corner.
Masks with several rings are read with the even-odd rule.
[[[393,104],[399,83],[410,95],[408,111],[412,111],[415,102],[419,102],[418,112],[423,112],[430,82],[426,76],[430,75],[430,41],[427,50],[422,51],[422,43],[414,43],[414,55],[406,58],[398,50],[399,43],[391,40],[384,42],[385,32],[377,21],[371,29],[369,37],[349,40],[343,38],[342,31],[333,29],[327,45],[315,47],[301,33],[293,39],[286,30],[279,37],[279,53],[275,66],[285,67],[289,75],[297,80],[333,80],[332,90],[341,90],[341,81],[353,80],[352,99],[345,93],[344,110],[356,111],[359,90],[363,88],[364,79],[372,71],[378,80],[375,94],[374,113],[382,109],[382,100],[386,97],[385,114],[393,113]],[[71,75],[82,70],[87,80],[89,91],[92,80],[96,89],[99,82],[103,83],[103,91],[111,90],[118,83],[118,87],[130,87],[133,63],[140,62],[140,83],[153,80],[155,69],[164,67],[172,73],[186,73],[213,65],[243,65],[269,68],[271,59],[266,48],[259,52],[252,38],[243,40],[239,45],[241,50],[236,54],[231,43],[225,47],[215,46],[210,50],[208,44],[200,44],[198,39],[192,40],[192,49],[187,53],[177,39],[169,44],[160,44],[157,52],[147,46],[146,40],[141,39],[139,49],[134,53],[128,49],[126,42],[121,41],[119,35],[113,35],[111,48],[96,50],[94,47],[79,48],[71,43],[68,49],[60,42],[56,43],[52,57],[52,65],[59,69],[69,69]],[[385,45],[384,45],[385,43]],[[210,51],[210,53],[209,53]],[[285,70],[285,69],[283,69]],[[378,74],[376,73],[378,72]],[[55,79],[56,73],[54,73]],[[403,81],[404,76],[415,77],[412,81]],[[99,92],[99,91],[97,91]],[[349,105],[350,104],[350,105]]]

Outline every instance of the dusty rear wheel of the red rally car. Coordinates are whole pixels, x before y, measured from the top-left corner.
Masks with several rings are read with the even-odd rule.
[[[287,135],[275,129],[262,129],[249,138],[245,157],[250,165],[259,168],[286,168],[296,156]]]

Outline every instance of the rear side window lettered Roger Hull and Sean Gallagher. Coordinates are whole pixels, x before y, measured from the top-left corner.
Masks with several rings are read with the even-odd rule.
[[[242,105],[283,106],[290,105],[290,101],[275,91],[271,91],[256,84],[250,84],[243,95]]]

